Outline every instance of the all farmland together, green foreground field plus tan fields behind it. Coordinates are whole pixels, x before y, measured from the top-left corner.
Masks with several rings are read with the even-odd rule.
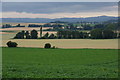
[[[12,39],[17,32],[32,29],[0,30],[3,78],[118,77],[118,39]],[[8,41],[18,43],[18,48],[7,48]],[[57,49],[43,49],[45,43]]]

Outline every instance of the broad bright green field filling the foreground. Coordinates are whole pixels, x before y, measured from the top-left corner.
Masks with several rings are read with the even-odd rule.
[[[3,78],[117,78],[117,49],[2,48]]]

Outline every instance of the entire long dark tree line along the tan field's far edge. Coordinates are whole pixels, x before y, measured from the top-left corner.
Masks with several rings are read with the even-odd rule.
[[[42,27],[40,27],[40,37],[38,31],[21,31],[16,34],[14,39],[113,39],[120,38],[120,33],[116,33],[110,29],[93,29],[90,32],[78,30],[61,30],[57,34],[49,34],[48,32],[42,35]]]

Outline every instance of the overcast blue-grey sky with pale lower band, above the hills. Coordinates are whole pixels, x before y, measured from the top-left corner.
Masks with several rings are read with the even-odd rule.
[[[3,18],[117,16],[117,2],[3,2]]]

